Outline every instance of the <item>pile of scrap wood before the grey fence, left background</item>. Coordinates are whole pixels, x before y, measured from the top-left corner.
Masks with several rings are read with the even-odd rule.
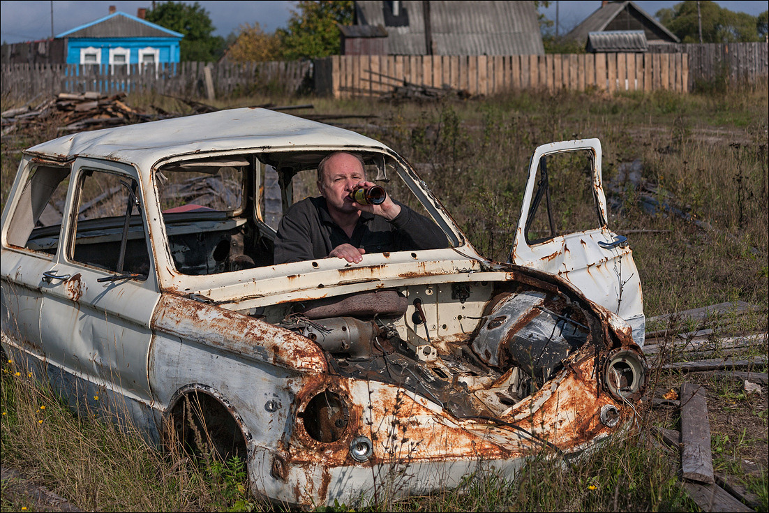
[[[15,130],[41,128],[55,122],[59,132],[78,132],[157,119],[128,107],[125,93],[102,95],[98,92],[59,93],[54,98],[32,106],[25,105],[2,112],[2,135]]]

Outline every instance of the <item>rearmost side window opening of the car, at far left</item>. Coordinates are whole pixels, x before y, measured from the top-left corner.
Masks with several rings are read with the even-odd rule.
[[[8,224],[9,245],[55,255],[69,187],[69,167],[32,170]]]

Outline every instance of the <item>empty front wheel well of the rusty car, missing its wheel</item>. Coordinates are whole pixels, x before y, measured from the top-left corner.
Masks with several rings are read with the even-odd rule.
[[[222,400],[198,388],[183,392],[168,417],[171,447],[208,458],[246,460],[248,448],[238,415]]]

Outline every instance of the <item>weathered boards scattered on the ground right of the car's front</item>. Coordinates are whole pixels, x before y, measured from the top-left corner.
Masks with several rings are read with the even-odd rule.
[[[644,344],[649,366],[738,381],[746,394],[764,394],[769,376],[760,369],[767,364],[767,331],[740,333],[745,316],[751,313],[765,315],[764,308],[733,301],[647,319],[647,326],[655,330],[647,332]],[[717,332],[736,334],[717,336]],[[680,456],[684,488],[702,511],[760,507],[756,495],[713,470],[705,388],[684,383],[679,392],[671,389],[651,398],[651,406],[674,408],[679,414],[681,431],[655,430],[666,450]]]

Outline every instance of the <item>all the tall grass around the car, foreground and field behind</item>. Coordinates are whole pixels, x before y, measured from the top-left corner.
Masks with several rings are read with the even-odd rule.
[[[425,182],[485,255],[506,260],[521,215],[523,184],[534,147],[571,138],[601,138],[604,182],[623,162],[640,159],[642,178],[667,202],[712,229],[665,212],[650,214],[638,191],[621,184],[610,228],[626,233],[644,287],[647,316],[742,300],[764,313],[769,303],[767,88],[739,94],[520,93],[482,101],[384,105],[375,100],[235,98],[218,107],[272,102],[315,104],[315,112],[378,113],[347,125],[386,142],[418,168]],[[185,111],[168,98],[128,98],[130,105]],[[6,108],[5,106],[3,108]],[[355,122],[348,122],[355,123]],[[58,135],[4,139],[2,201],[18,167],[18,151]],[[611,194],[610,194],[611,196]],[[18,375],[16,374],[18,372]],[[131,428],[72,415],[23,369],[3,366],[3,465],[21,468],[82,508],[115,511],[260,509],[241,491],[241,470],[195,465],[160,453]],[[42,408],[45,407],[45,408]],[[650,419],[642,419],[644,427]],[[514,481],[479,472],[458,491],[368,505],[371,511],[691,510],[667,455],[634,432],[571,466],[535,458]],[[765,443],[765,442],[764,442]],[[118,465],[115,462],[119,462]],[[765,482],[765,478],[764,481]],[[23,504],[2,504],[4,511]]]

